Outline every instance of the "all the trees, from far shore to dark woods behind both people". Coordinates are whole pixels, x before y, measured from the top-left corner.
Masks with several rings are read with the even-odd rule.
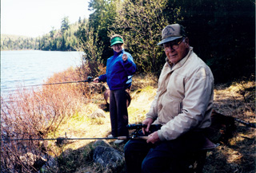
[[[137,73],[158,76],[165,57],[158,41],[168,25],[186,27],[190,45],[214,73],[215,82],[250,77],[255,70],[255,3],[252,0],[91,0],[89,19],[69,23],[42,37],[1,37],[1,49],[82,50],[91,76],[113,54],[110,36],[121,34]]]

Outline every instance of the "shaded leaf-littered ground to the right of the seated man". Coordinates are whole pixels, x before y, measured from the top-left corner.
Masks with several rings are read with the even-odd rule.
[[[214,89],[214,110],[246,123],[255,124],[255,82],[240,82],[233,85],[216,85]],[[255,169],[255,128],[234,121],[235,129],[226,141],[208,151],[204,173],[246,172]],[[226,127],[222,132],[225,133]]]

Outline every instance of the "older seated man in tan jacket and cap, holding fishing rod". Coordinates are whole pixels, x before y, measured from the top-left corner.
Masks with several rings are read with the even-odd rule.
[[[162,29],[166,63],[158,80],[158,91],[146,113],[147,128],[162,127],[148,140],[130,140],[124,147],[130,173],[170,172],[170,165],[188,151],[202,149],[208,141],[205,128],[210,126],[214,100],[214,77],[210,68],[190,47],[185,29],[179,24]]]

